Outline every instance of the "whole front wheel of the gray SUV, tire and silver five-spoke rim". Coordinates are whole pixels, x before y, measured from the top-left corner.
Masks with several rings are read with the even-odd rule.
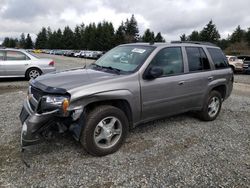
[[[108,155],[121,147],[128,127],[128,119],[122,110],[114,106],[99,106],[87,115],[80,142],[92,155]]]

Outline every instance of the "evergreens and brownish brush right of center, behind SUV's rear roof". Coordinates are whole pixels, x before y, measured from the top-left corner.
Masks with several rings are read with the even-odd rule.
[[[181,41],[211,42],[221,47],[228,54],[249,53],[250,28],[244,30],[238,25],[231,35],[221,39],[219,31],[212,20],[201,31],[192,31],[190,35],[182,34]]]

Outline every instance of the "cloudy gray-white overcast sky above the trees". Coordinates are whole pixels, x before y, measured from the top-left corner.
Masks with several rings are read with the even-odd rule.
[[[72,29],[77,24],[113,23],[134,14],[140,33],[150,28],[167,41],[201,30],[213,20],[223,38],[250,27],[250,0],[0,0],[0,41],[22,32],[36,37],[41,27]]]

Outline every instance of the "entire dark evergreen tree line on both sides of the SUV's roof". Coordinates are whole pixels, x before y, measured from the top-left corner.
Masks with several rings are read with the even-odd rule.
[[[200,30],[194,30],[191,34],[182,34],[181,41],[205,41],[220,46],[226,53],[239,54],[249,53],[250,28],[247,30],[237,26],[231,35],[221,39],[221,35],[212,20]],[[33,43],[30,34],[22,33],[20,39],[6,37],[3,46],[25,49],[86,49],[107,51],[116,45],[131,42],[165,42],[161,33],[155,34],[146,29],[142,36],[134,15],[122,22],[117,30],[111,22],[103,21],[98,24],[76,25],[74,30],[69,26],[52,31],[50,27],[42,29],[37,34]]]

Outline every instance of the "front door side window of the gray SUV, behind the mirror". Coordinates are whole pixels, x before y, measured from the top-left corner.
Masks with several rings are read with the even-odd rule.
[[[162,49],[152,60],[150,67],[163,69],[163,76],[183,73],[183,58],[180,47]]]

